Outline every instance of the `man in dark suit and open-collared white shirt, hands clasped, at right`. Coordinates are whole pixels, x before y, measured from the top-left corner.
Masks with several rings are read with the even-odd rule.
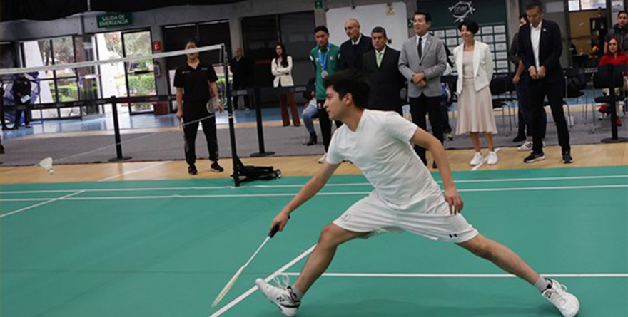
[[[530,74],[530,110],[532,112],[532,154],[523,162],[545,160],[542,143],[542,112],[545,96],[550,101],[552,116],[558,130],[558,142],[562,147],[562,162],[573,162],[569,146],[569,129],[562,110],[564,73],[560,66],[562,38],[558,24],[543,19],[542,4],[532,2],[525,8],[529,24],[519,28],[519,58],[525,71]]]

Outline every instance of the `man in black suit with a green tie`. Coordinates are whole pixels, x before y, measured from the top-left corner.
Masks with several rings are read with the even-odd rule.
[[[362,72],[371,84],[368,108],[397,111],[403,115],[400,91],[405,85],[405,77],[398,67],[400,51],[386,45],[388,36],[381,26],[373,28],[371,38],[375,49],[366,52],[362,58]]]

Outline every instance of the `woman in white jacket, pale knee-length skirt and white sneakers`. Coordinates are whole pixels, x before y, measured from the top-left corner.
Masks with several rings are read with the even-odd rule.
[[[497,133],[495,115],[493,115],[490,80],[493,76],[493,61],[487,44],[475,41],[475,33],[479,27],[475,21],[468,19],[458,26],[460,37],[464,43],[454,48],[456,69],[458,73],[458,124],[456,134],[469,132],[475,155],[470,164],[480,165],[482,157],[480,133],[484,134],[488,145],[488,165],[497,164],[497,153],[493,145],[492,135]]]

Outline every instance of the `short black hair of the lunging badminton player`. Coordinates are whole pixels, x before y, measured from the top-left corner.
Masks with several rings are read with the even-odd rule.
[[[353,97],[356,107],[365,109],[370,93],[370,85],[366,76],[354,69],[345,69],[334,73],[323,80],[325,89],[332,87],[340,98],[344,98],[348,93]]]

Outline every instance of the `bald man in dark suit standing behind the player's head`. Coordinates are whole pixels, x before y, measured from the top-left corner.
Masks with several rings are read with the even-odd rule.
[[[371,39],[360,33],[360,22],[356,19],[348,19],[345,22],[345,33],[349,39],[340,45],[338,71],[348,68],[360,71],[362,69],[362,56],[368,51],[373,51]]]

